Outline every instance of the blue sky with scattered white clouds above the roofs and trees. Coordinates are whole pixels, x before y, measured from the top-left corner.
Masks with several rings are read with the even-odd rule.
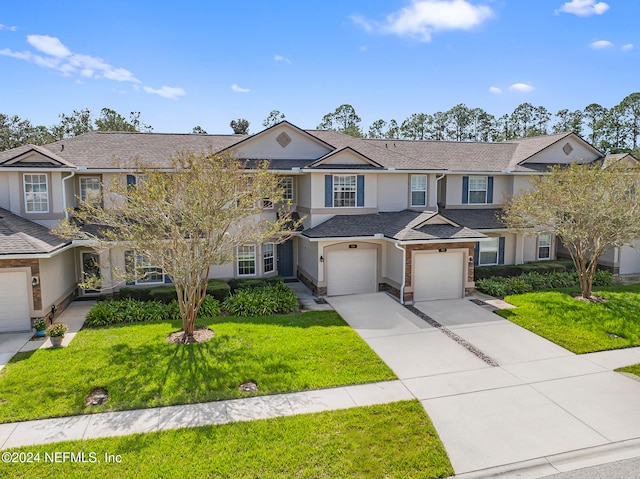
[[[0,112],[140,111],[156,132],[315,128],[458,103],[582,109],[639,91],[637,0],[29,1],[0,11]]]

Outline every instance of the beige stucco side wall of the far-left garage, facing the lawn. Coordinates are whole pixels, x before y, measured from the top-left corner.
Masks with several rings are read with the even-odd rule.
[[[78,286],[75,258],[75,250],[70,249],[52,258],[40,260],[42,309],[45,313],[52,304],[59,303]]]

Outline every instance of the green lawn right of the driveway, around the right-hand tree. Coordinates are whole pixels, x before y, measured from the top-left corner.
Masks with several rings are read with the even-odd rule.
[[[507,296],[517,308],[497,313],[578,354],[640,345],[640,284],[594,288],[604,303],[579,301],[569,292]]]

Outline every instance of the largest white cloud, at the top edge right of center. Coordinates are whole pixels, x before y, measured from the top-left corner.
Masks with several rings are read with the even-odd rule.
[[[384,22],[352,15],[351,20],[366,32],[411,37],[431,41],[431,35],[441,30],[469,30],[493,17],[486,5],[473,5],[467,0],[413,0],[413,3],[387,15]]]

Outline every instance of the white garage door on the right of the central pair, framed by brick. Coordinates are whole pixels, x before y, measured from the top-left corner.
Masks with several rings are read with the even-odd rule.
[[[462,253],[416,254],[413,265],[413,300],[462,298],[463,259]]]

